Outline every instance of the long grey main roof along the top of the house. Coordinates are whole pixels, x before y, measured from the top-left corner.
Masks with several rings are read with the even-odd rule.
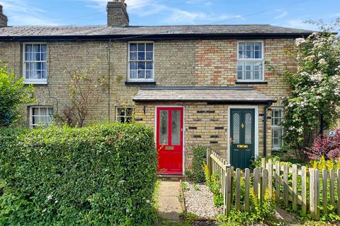
[[[301,37],[311,30],[273,25],[174,25],[174,26],[13,26],[0,28],[0,40],[204,37]],[[141,37],[138,37],[139,39]]]

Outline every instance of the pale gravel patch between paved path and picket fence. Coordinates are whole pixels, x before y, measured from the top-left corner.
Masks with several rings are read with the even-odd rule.
[[[222,214],[222,208],[216,208],[212,199],[212,192],[204,184],[183,182],[187,189],[183,189],[186,201],[186,211],[198,215],[204,219],[215,219],[216,215]]]

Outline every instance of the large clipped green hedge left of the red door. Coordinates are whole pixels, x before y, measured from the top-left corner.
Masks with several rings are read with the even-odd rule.
[[[10,131],[8,131],[10,130]],[[152,225],[151,128],[0,129],[0,225]]]

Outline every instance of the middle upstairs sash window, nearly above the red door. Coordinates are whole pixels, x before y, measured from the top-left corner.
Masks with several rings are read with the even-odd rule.
[[[154,81],[154,43],[129,43],[129,81]]]

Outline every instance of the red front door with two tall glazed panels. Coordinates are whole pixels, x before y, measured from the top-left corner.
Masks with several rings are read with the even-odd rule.
[[[183,174],[183,107],[157,107],[159,174]]]

